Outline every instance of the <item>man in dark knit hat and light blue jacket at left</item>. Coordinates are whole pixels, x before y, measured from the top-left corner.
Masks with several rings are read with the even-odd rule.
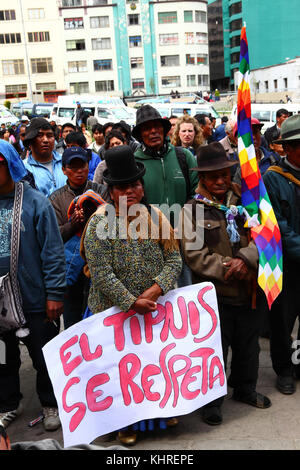
[[[33,174],[35,185],[45,196],[66,183],[62,171],[61,155],[54,150],[55,136],[50,123],[44,118],[34,118],[26,127],[24,146],[30,149],[24,160]]]

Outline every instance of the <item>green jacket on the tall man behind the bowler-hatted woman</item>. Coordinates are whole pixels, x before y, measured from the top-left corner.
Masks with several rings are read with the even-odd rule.
[[[189,150],[182,149],[186,154],[189,168],[196,166],[196,159]],[[191,194],[187,197],[187,188],[184,175],[175,152],[174,145],[168,143],[167,152],[156,158],[144,153],[143,147],[134,154],[136,161],[142,162],[146,167],[144,176],[145,194],[149,204],[179,204],[181,207],[193,197],[198,185],[196,171],[190,171]]]

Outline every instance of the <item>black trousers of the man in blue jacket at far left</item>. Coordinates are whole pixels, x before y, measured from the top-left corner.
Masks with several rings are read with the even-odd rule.
[[[30,334],[22,338],[36,370],[36,390],[42,407],[57,407],[56,398],[46,368],[42,347],[54,338],[60,329],[60,320],[46,321],[45,313],[26,315]],[[0,412],[15,410],[22,398],[19,369],[21,366],[19,338],[15,332],[4,333],[5,364],[0,364]],[[3,348],[2,348],[3,349]],[[3,361],[1,361],[3,362]]]

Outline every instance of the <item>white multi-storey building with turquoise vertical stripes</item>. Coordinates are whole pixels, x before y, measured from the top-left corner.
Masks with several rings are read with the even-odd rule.
[[[71,93],[209,89],[206,1],[61,0],[59,12]]]

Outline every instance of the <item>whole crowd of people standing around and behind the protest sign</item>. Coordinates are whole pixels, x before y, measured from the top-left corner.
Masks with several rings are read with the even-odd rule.
[[[80,121],[78,116],[77,125],[58,128],[33,118],[16,129],[3,129],[0,136],[0,276],[10,269],[15,188],[22,182],[18,281],[29,330],[22,342],[37,373],[45,430],[57,429],[60,420],[42,347],[62,327],[114,305],[143,315],[155,311],[157,299],[170,289],[203,281],[216,288],[225,367],[232,350],[228,384],[233,398],[260,409],[271,406],[256,390],[262,318],[276,387],[294,393],[300,378],[291,344],[300,312],[300,116],[278,110],[276,125],[264,136],[262,123],[251,120],[256,158],[283,242],[283,291],[271,315],[256,284],[257,248],[241,211],[232,209],[241,206],[237,123],[224,116],[215,127],[215,119],[205,114],[166,119],[150,105],[138,109],[133,129],[124,121],[91,128]],[[137,244],[128,227],[125,239],[121,233],[124,196],[125,213],[139,204],[146,227],[153,222],[154,205],[177,204],[182,210],[168,219],[156,209],[157,237],[141,236]],[[97,236],[108,204],[116,213],[113,240]],[[196,219],[198,205],[204,208],[202,221]],[[229,230],[229,216],[234,230]],[[174,233],[184,220],[191,231],[183,230],[177,240]],[[191,250],[199,222],[204,243]],[[15,331],[0,332],[0,339],[6,345],[6,363],[0,364],[0,425],[6,428],[22,413],[21,361]],[[205,423],[222,423],[222,401],[202,408]],[[176,418],[159,420],[161,428],[175,424]],[[136,423],[119,430],[118,437],[132,445],[142,428],[145,422]]]

